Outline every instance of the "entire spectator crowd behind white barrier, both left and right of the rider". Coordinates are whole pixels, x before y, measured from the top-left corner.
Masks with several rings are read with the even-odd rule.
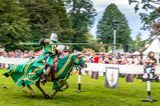
[[[43,51],[20,51],[15,50],[12,52],[0,51],[0,56],[3,57],[13,57],[13,58],[32,58],[39,56]],[[142,65],[144,60],[142,55],[134,55],[131,53],[105,53],[105,52],[95,52],[90,48],[84,48],[82,51],[84,53],[84,60],[87,63],[104,63],[104,64],[135,64],[135,65]]]

